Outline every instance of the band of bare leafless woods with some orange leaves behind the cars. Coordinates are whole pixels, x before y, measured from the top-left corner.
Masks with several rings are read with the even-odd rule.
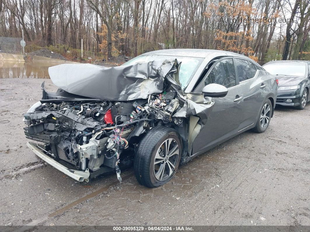
[[[310,0],[0,0],[0,34],[20,37],[23,29],[32,44],[64,52],[80,48],[83,38],[86,50],[108,58],[163,47],[204,48],[263,63],[305,59],[309,5]],[[285,15],[293,20],[261,21]]]

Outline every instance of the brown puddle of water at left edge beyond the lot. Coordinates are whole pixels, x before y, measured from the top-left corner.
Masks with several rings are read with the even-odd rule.
[[[60,63],[0,61],[0,78],[50,78],[48,68]]]

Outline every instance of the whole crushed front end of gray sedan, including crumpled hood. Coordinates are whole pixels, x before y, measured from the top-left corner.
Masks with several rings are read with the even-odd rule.
[[[121,182],[120,172],[131,166],[144,133],[164,125],[180,134],[181,163],[186,163],[188,141],[197,136],[190,128],[203,127],[213,102],[206,104],[203,96],[194,102],[195,96],[182,92],[176,81],[179,65],[171,60],[115,68],[50,67],[50,77],[60,89],[47,92],[43,82],[42,100],[24,114],[25,136],[35,141],[28,147],[80,182],[113,172]],[[191,116],[200,120],[188,120]],[[195,125],[189,126],[190,121]]]

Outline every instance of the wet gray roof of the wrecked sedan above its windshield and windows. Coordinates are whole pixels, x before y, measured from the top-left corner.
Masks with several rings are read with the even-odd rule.
[[[213,57],[238,56],[238,57],[250,59],[247,56],[240,55],[234,52],[212,50],[212,49],[164,49],[164,50],[146,52],[142,55],[174,55],[174,56],[187,56],[187,57],[199,57],[199,58],[210,58],[211,56]]]

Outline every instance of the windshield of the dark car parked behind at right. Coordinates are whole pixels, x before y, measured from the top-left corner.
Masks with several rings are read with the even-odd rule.
[[[306,75],[305,63],[270,63],[263,66],[267,72],[273,75],[300,76]]]

